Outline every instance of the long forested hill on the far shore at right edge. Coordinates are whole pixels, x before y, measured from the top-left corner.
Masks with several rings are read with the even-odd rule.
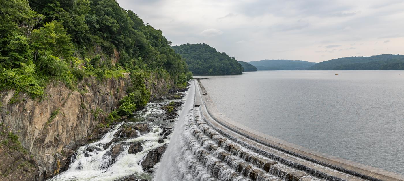
[[[309,70],[404,70],[404,56],[382,54],[371,57],[346,57],[320,62]]]

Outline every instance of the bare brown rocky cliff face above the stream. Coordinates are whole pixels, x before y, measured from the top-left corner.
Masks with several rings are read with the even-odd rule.
[[[17,167],[21,159],[36,167],[36,171],[28,171],[36,172],[33,174],[36,180],[59,173],[67,157],[75,148],[87,142],[87,136],[99,121],[118,107],[119,100],[126,95],[128,85],[128,75],[126,78],[102,81],[83,80],[77,91],[59,82],[47,86],[46,97],[41,101],[32,100],[24,93],[17,95],[13,90],[2,92],[0,123],[7,130],[3,134],[12,132],[18,136],[18,141],[25,148],[22,151],[25,157],[21,153],[11,153],[3,145],[4,149],[0,152],[5,154],[0,155],[0,160],[5,160],[4,157],[8,161],[0,165],[0,180],[16,180],[13,175],[20,177],[22,174]],[[19,180],[32,180],[33,175],[21,176]]]

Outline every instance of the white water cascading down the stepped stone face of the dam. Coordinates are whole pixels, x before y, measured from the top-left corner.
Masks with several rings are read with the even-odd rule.
[[[252,146],[252,140],[219,129],[203,113],[203,104],[193,107],[201,103],[201,94],[198,84],[192,84],[154,181],[363,180],[264,145]]]

